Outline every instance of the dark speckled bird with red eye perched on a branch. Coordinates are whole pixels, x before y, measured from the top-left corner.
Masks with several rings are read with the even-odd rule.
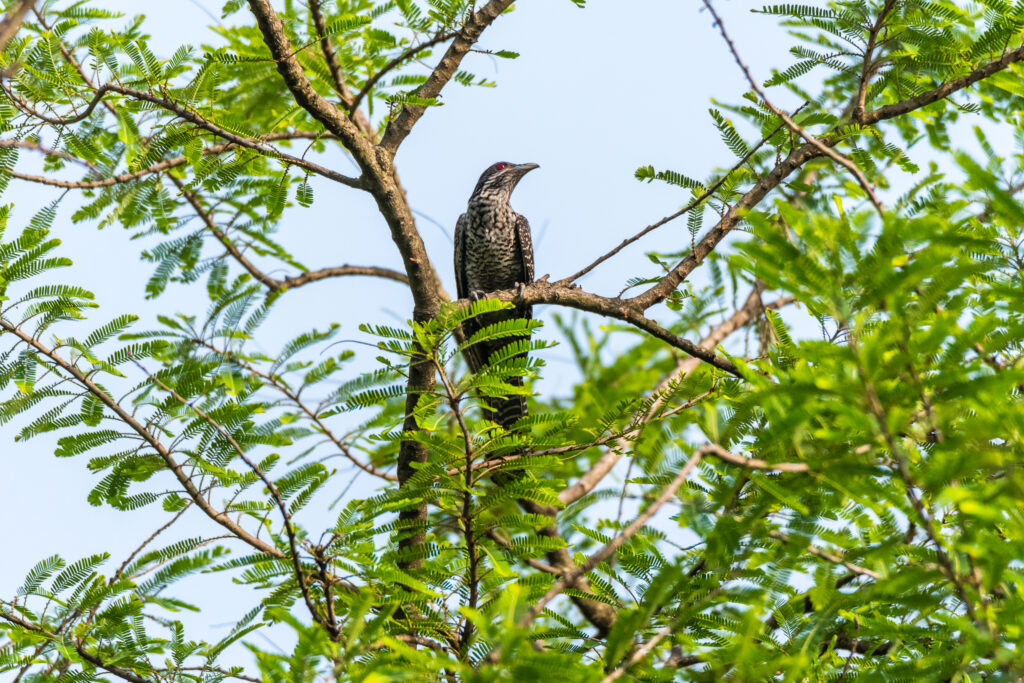
[[[469,197],[466,213],[459,216],[455,227],[455,279],[460,299],[478,300],[487,292],[522,289],[534,282],[534,243],[529,223],[509,204],[512,190],[523,176],[540,168],[537,164],[492,164],[480,175]],[[514,308],[482,313],[462,324],[469,339],[477,331],[504,321],[531,319],[532,306],[516,304]],[[466,347],[464,355],[469,368],[478,372],[487,359],[522,337],[503,337]],[[525,357],[525,352],[518,354]],[[511,377],[509,384],[522,386],[521,377]],[[486,404],[492,420],[505,429],[526,417],[526,398],[521,394],[488,396]]]

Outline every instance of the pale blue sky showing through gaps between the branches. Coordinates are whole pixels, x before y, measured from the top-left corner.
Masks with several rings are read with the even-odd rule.
[[[167,57],[182,42],[215,43],[207,12],[219,16],[222,1],[92,4],[145,14],[151,45],[158,56]],[[772,67],[792,63],[792,41],[775,17],[751,13],[760,6],[741,0],[719,0],[716,5],[744,61],[763,81]],[[420,229],[450,292],[455,290],[452,230],[480,172],[496,161],[541,165],[519,185],[513,205],[532,225],[538,276],[550,273],[552,280],[578,270],[685,203],[687,194],[678,188],[634,179],[638,167],[650,164],[705,178],[713,169],[733,163],[707,112],[714,99],[737,101],[745,82],[700,7],[699,0],[590,0],[586,9],[569,0],[526,0],[486,31],[481,47],[514,50],[521,56],[499,60],[470,55],[463,68],[497,80],[498,87],[450,86],[444,105],[427,112],[396,160],[413,208],[429,217],[421,220]],[[244,10],[231,20],[251,23],[252,17]],[[432,65],[439,55],[427,61]],[[793,104],[781,92],[774,101]],[[962,132],[963,146],[971,147],[971,136],[966,129]],[[342,172],[354,169],[340,154],[327,161]],[[23,154],[18,169],[32,172],[35,163]],[[300,261],[310,268],[354,263],[401,269],[368,195],[319,178],[313,187],[313,207],[287,211],[279,233]],[[24,225],[58,196],[54,188],[12,182],[2,198],[15,203],[11,227]],[[172,285],[161,298],[145,300],[143,287],[152,265],[137,257],[144,245],[131,242],[130,233],[117,226],[97,231],[94,224],[72,224],[70,216],[78,204],[74,195],[65,199],[54,233],[65,242],[60,255],[75,261],[62,274],[69,283],[92,290],[100,303],[90,329],[126,311],[143,318],[140,327],[157,313],[202,314],[207,300],[201,286],[187,290]],[[670,223],[600,266],[583,285],[615,294],[629,276],[650,271],[644,251],[678,250],[689,241],[684,221]],[[273,352],[298,332],[336,321],[344,324],[343,338],[365,338],[355,329],[357,323],[400,323],[410,310],[411,298],[401,285],[355,278],[325,281],[289,293],[264,326],[260,343],[262,350]],[[549,317],[550,311],[542,316]],[[553,334],[549,330],[549,337]],[[373,355],[369,353],[367,362]],[[537,389],[567,389],[572,380],[569,358],[567,349],[549,351],[547,377]],[[54,553],[74,561],[111,552],[109,572],[167,519],[156,506],[131,513],[91,507],[86,496],[98,477],[86,469],[87,457],[57,461],[54,439],[46,437],[13,443],[24,422],[0,427],[4,598],[13,595],[33,564]],[[348,474],[335,481],[343,486]],[[375,485],[369,478],[357,480],[352,494],[366,496]],[[321,503],[328,501],[326,496]],[[219,532],[191,512],[184,521],[166,542]],[[315,527],[315,520],[307,523]],[[183,618],[194,639],[226,635],[256,599],[249,588],[225,587],[223,575],[191,579],[171,593],[204,603],[202,614]]]

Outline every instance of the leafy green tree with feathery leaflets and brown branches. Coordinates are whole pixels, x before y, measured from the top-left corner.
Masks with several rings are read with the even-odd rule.
[[[529,36],[487,40],[511,0],[229,0],[215,46],[161,55],[153,27],[103,0],[6,2],[0,191],[84,198],[25,225],[0,209],[6,457],[56,433],[71,460],[52,466],[95,475],[90,504],[166,522],[128,557],[40,559],[0,596],[0,672],[1024,676],[1024,3],[764,6],[749,20],[793,45],[764,81],[758,46],[692,4],[748,86],[710,111],[732,156],[705,179],[637,169],[677,211],[574,273],[470,302],[444,291],[450,257],[424,246],[395,159],[445,115],[443,91],[496,85],[469,71],[479,53],[515,68]],[[969,153],[955,131],[972,129]],[[400,270],[293,255],[279,228],[316,201],[315,176],[369,195]],[[89,283],[62,274],[67,222],[153,245],[137,253],[152,324],[97,315]],[[618,288],[578,284],[684,223]],[[349,276],[407,286],[407,323],[339,310],[262,343],[295,290]],[[205,314],[164,306],[171,288]],[[462,334],[515,303],[554,325]],[[342,325],[372,348],[339,344]],[[516,342],[470,372],[463,351],[499,338]],[[532,383],[555,343],[573,385],[546,395]],[[530,415],[506,430],[484,399],[510,393]],[[204,535],[175,536],[186,514]],[[174,595],[199,572],[255,589],[219,640],[178,617],[203,609]],[[253,638],[271,625],[290,651]]]

